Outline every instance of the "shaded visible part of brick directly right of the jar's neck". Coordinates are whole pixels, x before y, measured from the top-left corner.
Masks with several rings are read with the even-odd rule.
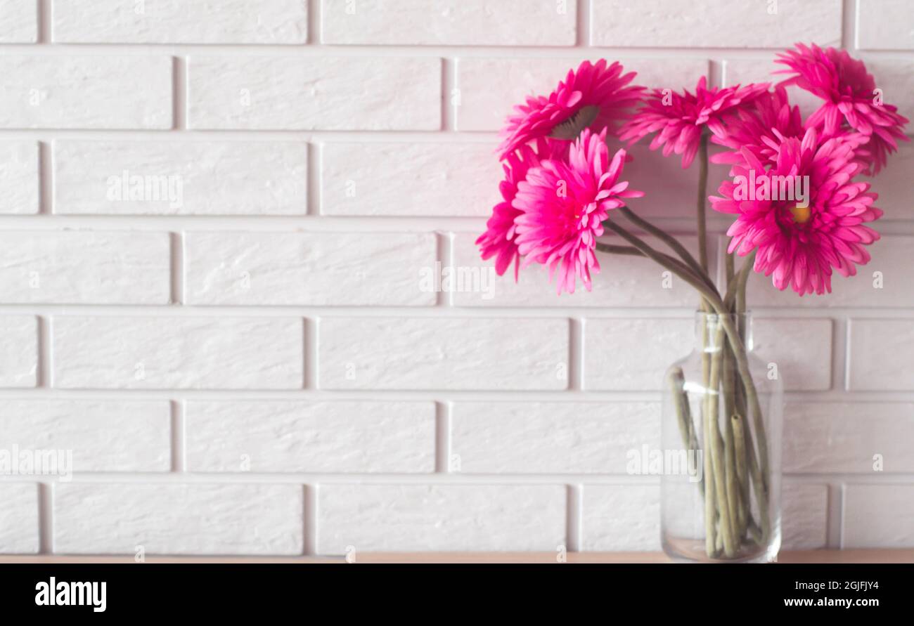
[[[832,321],[813,318],[757,318],[753,352],[777,364],[786,391],[825,391],[832,387]]]

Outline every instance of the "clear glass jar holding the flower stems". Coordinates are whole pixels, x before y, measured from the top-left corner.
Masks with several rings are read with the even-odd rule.
[[[781,547],[777,363],[752,354],[749,313],[696,313],[695,346],[664,378],[664,551],[685,561],[773,561]]]

